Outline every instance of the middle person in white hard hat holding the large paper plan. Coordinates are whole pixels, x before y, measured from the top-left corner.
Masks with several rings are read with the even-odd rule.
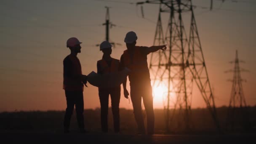
[[[100,44],[100,51],[103,52],[102,59],[97,61],[97,73],[104,75],[109,73],[118,72],[120,70],[120,62],[118,59],[113,59],[110,54],[112,53],[112,45],[108,41]],[[120,118],[119,118],[119,102],[120,102],[120,85],[114,88],[101,88],[99,87],[99,100],[101,104],[101,130],[108,131],[108,104],[109,95],[111,98],[111,107],[114,121],[114,131],[120,131]]]

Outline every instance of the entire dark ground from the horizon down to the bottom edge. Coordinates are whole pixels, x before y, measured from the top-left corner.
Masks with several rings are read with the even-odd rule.
[[[256,144],[256,107],[250,108],[250,132],[235,125],[235,131],[224,131],[227,107],[217,108],[223,134],[216,131],[208,109],[192,109],[191,129],[185,131],[182,115],[176,113],[170,123],[170,133],[165,133],[165,113],[155,109],[155,135],[136,135],[133,111],[120,109],[120,130],[113,133],[112,112],[109,109],[109,133],[101,133],[100,109],[85,109],[85,128],[89,133],[79,133],[75,112],[71,132],[63,133],[64,111],[1,112],[1,144]],[[171,111],[172,113],[172,111]],[[145,116],[145,115],[144,115]],[[236,120],[241,120],[235,115]],[[5,141],[4,143],[2,141]]]

